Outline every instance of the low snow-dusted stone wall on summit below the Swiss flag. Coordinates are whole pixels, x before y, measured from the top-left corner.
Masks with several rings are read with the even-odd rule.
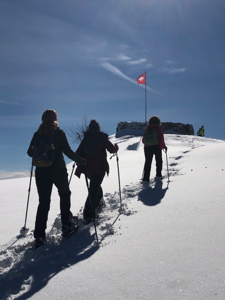
[[[148,125],[148,122],[119,122],[116,128],[116,138],[133,135],[141,137]],[[164,134],[187,134],[194,135],[194,129],[191,124],[162,122]]]

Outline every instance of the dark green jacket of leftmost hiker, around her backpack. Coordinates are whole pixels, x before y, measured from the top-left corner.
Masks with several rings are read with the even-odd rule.
[[[38,136],[38,131],[35,132],[30,147],[27,151],[27,154],[32,157],[32,146],[35,144],[35,138]],[[62,170],[66,168],[66,164],[64,161],[63,153],[70,158],[72,161],[75,161],[78,164],[83,164],[85,161],[80,158],[78,155],[76,155],[75,152],[70,148],[70,145],[67,141],[66,135],[62,129],[59,127],[55,130],[55,136],[53,137],[53,144],[55,147],[55,160],[53,161],[53,164],[49,167],[36,167],[37,170]]]

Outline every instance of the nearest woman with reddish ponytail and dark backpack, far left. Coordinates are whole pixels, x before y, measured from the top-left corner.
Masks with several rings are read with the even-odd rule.
[[[34,230],[36,248],[46,243],[45,229],[47,227],[53,184],[57,187],[60,197],[62,231],[70,233],[72,230],[70,223],[73,216],[70,211],[71,192],[63,153],[78,164],[86,164],[85,159],[80,158],[70,148],[64,131],[58,127],[56,122],[57,114],[55,110],[44,111],[41,120],[42,123],[38,131],[35,132],[27,151],[27,154],[33,158],[33,165],[36,166],[35,180],[39,196]],[[43,145],[44,149],[42,149]]]

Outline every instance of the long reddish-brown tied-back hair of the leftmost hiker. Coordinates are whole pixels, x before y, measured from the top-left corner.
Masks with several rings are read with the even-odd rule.
[[[42,117],[42,123],[38,128],[38,133],[44,137],[54,137],[55,129],[58,126],[57,113],[55,110],[45,110]]]

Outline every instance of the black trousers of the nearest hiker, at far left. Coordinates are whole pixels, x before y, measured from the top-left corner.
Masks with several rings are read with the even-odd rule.
[[[38,189],[39,205],[35,221],[34,237],[45,238],[48,212],[50,209],[53,183],[58,189],[60,197],[61,222],[66,225],[71,217],[70,212],[70,189],[67,169],[63,170],[38,170],[35,171],[35,180]]]

